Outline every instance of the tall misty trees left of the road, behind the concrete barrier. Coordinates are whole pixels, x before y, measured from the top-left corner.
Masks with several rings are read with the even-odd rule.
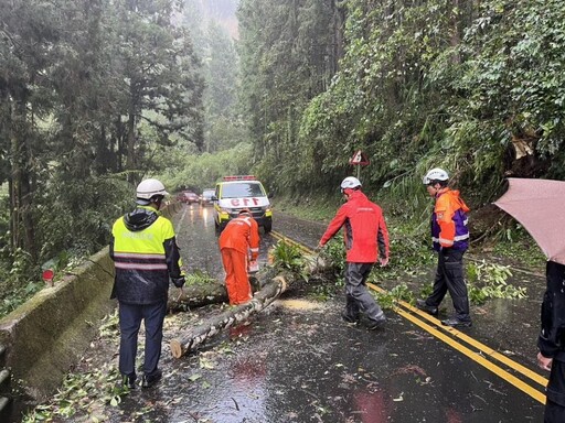
[[[107,245],[135,184],[164,169],[156,158],[202,149],[201,65],[178,12],[173,0],[0,3],[2,292]]]

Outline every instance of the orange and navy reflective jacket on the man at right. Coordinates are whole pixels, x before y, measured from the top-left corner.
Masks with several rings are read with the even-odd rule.
[[[439,251],[440,247],[467,250],[469,247],[467,212],[469,207],[459,197],[458,191],[444,188],[438,193],[431,214],[434,250]]]

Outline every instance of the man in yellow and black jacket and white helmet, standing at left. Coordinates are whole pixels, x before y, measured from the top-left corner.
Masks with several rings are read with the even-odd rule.
[[[111,229],[110,258],[116,267],[113,299],[119,303],[119,371],[125,387],[136,387],[138,333],[143,321],[146,348],[142,388],[162,376],[159,369],[169,280],[184,285],[182,261],[172,223],[159,208],[167,191],[158,180],[137,186],[137,207],[120,217]]]

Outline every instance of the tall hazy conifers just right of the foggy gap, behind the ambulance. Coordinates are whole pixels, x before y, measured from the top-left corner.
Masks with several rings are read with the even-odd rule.
[[[239,2],[242,96],[249,137],[258,172],[279,192],[306,178],[323,185],[308,153],[313,140],[299,143],[298,131],[308,102],[329,87],[335,72],[335,14],[334,1],[327,0]]]

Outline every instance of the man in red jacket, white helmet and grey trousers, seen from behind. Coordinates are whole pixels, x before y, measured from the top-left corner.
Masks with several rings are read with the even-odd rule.
[[[364,312],[369,329],[376,329],[386,317],[366,289],[366,280],[373,264],[388,263],[388,230],[383,210],[361,192],[361,182],[348,176],[341,183],[341,192],[348,202],[340,207],[323,234],[319,248],[322,248],[343,227],[347,250],[345,267],[345,311],[341,316],[348,323],[358,323],[359,313]]]

